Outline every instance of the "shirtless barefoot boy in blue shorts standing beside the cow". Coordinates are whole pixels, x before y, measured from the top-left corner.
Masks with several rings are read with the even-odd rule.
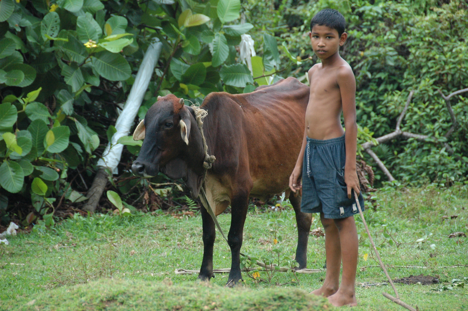
[[[306,128],[289,186],[293,192],[302,191],[301,211],[320,213],[325,230],[327,272],[322,287],[312,294],[328,297],[335,306],[355,306],[358,234],[354,215],[358,209],[354,194],[362,208],[364,200],[356,173],[356,80],[338,52],[348,36],[344,27],[343,15],[333,9],[320,11],[310,22],[312,49],[322,63],[308,72]]]

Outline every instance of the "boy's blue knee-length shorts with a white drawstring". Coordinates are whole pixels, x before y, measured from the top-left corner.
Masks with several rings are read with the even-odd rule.
[[[354,191],[348,199],[348,188],[344,182],[345,162],[344,135],[327,140],[307,137],[302,165],[301,212],[323,213],[325,218],[332,219],[359,214]],[[361,193],[358,199],[364,211]]]

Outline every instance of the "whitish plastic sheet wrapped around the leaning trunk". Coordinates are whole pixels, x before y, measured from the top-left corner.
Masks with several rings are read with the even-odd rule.
[[[148,46],[143,61],[138,69],[135,82],[132,85],[130,94],[128,95],[127,102],[124,109],[119,114],[116,121],[117,132],[112,136],[112,148],[110,143],[107,145],[102,158],[97,162],[98,166],[109,168],[113,174],[117,174],[117,164],[120,162],[122,156],[122,149],[124,145],[117,143],[117,141],[130,133],[133,126],[133,121],[137,116],[139,107],[145,96],[146,89],[148,88],[149,81],[153,75],[154,66],[161,54],[161,42],[154,42]]]

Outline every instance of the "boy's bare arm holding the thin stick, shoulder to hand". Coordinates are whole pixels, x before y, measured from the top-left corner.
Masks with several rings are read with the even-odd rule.
[[[358,125],[356,124],[356,79],[351,67],[341,67],[337,76],[343,106],[346,163],[344,165],[344,182],[348,186],[348,198],[351,199],[351,189],[358,195],[358,174],[356,172],[356,148],[358,141]]]

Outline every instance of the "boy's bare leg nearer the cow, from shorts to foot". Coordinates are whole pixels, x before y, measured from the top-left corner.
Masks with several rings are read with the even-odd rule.
[[[333,219],[324,218],[323,213],[320,213],[320,221],[325,230],[327,272],[322,287],[320,289],[315,289],[311,294],[328,297],[336,293],[340,281],[340,235]]]

